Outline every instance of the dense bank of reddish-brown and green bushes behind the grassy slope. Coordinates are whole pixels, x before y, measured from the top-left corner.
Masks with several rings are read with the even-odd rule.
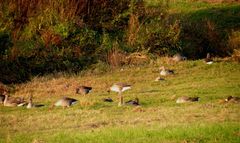
[[[131,64],[136,52],[229,56],[239,28],[238,3],[0,0],[0,81]]]

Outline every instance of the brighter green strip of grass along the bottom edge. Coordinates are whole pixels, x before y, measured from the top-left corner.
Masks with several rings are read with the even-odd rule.
[[[26,134],[17,135],[13,142],[22,142],[22,139],[32,141],[46,141],[46,142],[209,142],[209,143],[226,143],[240,141],[237,136],[239,127],[235,123],[229,124],[197,124],[192,126],[178,125],[178,126],[129,126],[106,128],[102,130],[88,131],[88,132],[65,132],[60,131],[54,133],[51,137],[38,139],[37,136],[26,138]]]

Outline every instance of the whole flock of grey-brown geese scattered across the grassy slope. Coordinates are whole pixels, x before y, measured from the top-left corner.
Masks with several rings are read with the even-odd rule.
[[[178,61],[182,61],[182,60],[186,60],[186,57],[183,57],[181,55],[175,55],[172,58],[174,61],[178,62]],[[213,60],[210,57],[210,54],[207,54],[207,57],[205,58],[205,63],[206,64],[212,64]],[[172,75],[174,74],[173,70],[169,70],[166,69],[164,66],[160,67],[160,75],[161,76],[168,76],[168,75]],[[164,78],[158,77],[155,81],[160,81],[160,80],[164,80]],[[127,102],[124,102],[123,99],[123,95],[122,93],[126,90],[131,89],[131,85],[130,84],[126,84],[126,83],[115,83],[113,84],[108,92],[110,93],[110,91],[113,92],[117,92],[118,93],[118,97],[119,97],[119,103],[118,106],[122,106],[122,105],[133,105],[133,106],[139,106],[139,99],[135,98],[134,100],[129,100]],[[86,95],[88,93],[90,93],[92,90],[92,87],[88,87],[88,86],[79,86],[76,88],[76,94],[81,94],[81,95]],[[0,103],[3,104],[4,106],[8,106],[8,107],[16,107],[16,106],[26,106],[26,108],[34,108],[34,107],[42,107],[44,106],[43,104],[34,104],[33,103],[33,97],[30,96],[28,102],[26,102],[23,98],[20,97],[9,97],[8,93],[6,90],[2,90],[3,92],[0,94]],[[77,103],[78,100],[74,99],[74,98],[69,98],[69,97],[62,97],[60,99],[58,99],[56,102],[54,102],[49,109],[54,108],[55,106],[62,106],[62,107],[70,107],[74,104]],[[104,98],[103,99],[104,102],[113,102],[113,100],[111,98]],[[199,97],[188,97],[188,96],[182,96],[177,98],[176,103],[187,103],[187,102],[197,102],[199,101]],[[240,97],[233,97],[233,96],[229,96],[226,99],[223,100],[224,102],[234,102],[234,103],[240,103]]]

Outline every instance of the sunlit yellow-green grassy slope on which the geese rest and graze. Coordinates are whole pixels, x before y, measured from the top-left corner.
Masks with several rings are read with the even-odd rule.
[[[156,82],[165,65],[176,74]],[[240,95],[240,65],[219,61],[168,64],[165,58],[138,67],[105,74],[49,75],[14,85],[13,96],[34,97],[42,108],[0,107],[0,142],[240,142],[239,104],[220,103]],[[125,101],[138,97],[141,106],[118,107],[117,94],[107,93],[115,82],[132,84]],[[68,87],[66,88],[66,85]],[[75,94],[78,85],[93,87],[86,97]],[[67,109],[49,110],[62,96],[79,100]],[[176,104],[179,96],[199,96],[197,103]],[[114,102],[105,103],[102,98]]]

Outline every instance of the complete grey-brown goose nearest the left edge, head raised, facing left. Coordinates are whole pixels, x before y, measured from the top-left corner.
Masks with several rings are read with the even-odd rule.
[[[23,98],[9,98],[8,95],[5,95],[3,102],[3,105],[8,107],[23,106],[25,104],[26,102]]]

